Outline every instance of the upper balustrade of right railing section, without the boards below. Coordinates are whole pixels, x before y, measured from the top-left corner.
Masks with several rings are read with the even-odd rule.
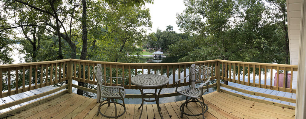
[[[292,82],[293,82],[293,71],[297,71],[297,65],[282,65],[282,64],[267,64],[267,63],[256,63],[256,62],[241,62],[241,61],[226,61],[226,60],[219,60],[221,62],[221,79],[229,82],[234,82],[238,84],[243,84],[247,86],[265,88],[265,89],[272,89],[278,90],[283,92],[290,92],[296,93],[296,89],[292,89]],[[270,85],[267,85],[267,72],[270,70]],[[277,77],[276,77],[276,86],[273,86],[274,82],[273,76],[275,72],[271,72],[276,70]],[[290,80],[290,87],[285,86],[285,77],[287,77],[285,72],[291,72]],[[252,73],[251,73],[252,72]],[[262,77],[261,72],[264,73]],[[279,72],[284,72],[283,77],[283,86],[279,86]],[[242,76],[241,76],[242,74]],[[247,78],[245,77],[247,76]],[[253,81],[251,82],[251,76]],[[237,79],[236,79],[237,77]],[[258,79],[257,79],[258,78]],[[261,82],[261,79],[264,79],[264,82]],[[256,83],[258,81],[258,83]]]

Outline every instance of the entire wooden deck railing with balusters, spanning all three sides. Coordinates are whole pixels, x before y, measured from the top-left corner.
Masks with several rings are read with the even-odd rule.
[[[126,89],[136,89],[137,87],[131,83],[131,78],[134,75],[139,75],[144,73],[160,74],[170,78],[170,82],[166,85],[166,88],[174,88],[176,87],[176,85],[187,86],[189,85],[188,79],[184,79],[179,84],[175,84],[174,81],[175,79],[181,79],[186,75],[188,75],[189,66],[192,64],[195,65],[201,64],[213,67],[213,70],[211,72],[212,73],[211,79],[212,80],[216,79],[216,83],[209,85],[209,88],[216,86],[218,92],[222,91],[238,97],[242,97],[244,99],[247,98],[248,100],[256,100],[257,102],[264,102],[288,108],[292,108],[293,106],[264,101],[260,99],[249,98],[237,93],[231,93],[229,91],[223,90],[220,87],[222,86],[225,88],[237,90],[242,93],[264,96],[271,99],[282,100],[292,103],[295,102],[295,99],[291,98],[274,96],[264,93],[257,93],[244,89],[239,89],[232,86],[227,86],[221,84],[221,80],[234,82],[247,86],[254,86],[259,88],[296,93],[296,89],[292,88],[292,82],[293,82],[292,77],[293,77],[293,72],[297,71],[297,65],[281,65],[281,64],[267,64],[267,63],[225,61],[225,60],[209,60],[209,61],[181,62],[181,63],[118,63],[118,62],[65,59],[58,61],[43,61],[43,62],[0,65],[0,98],[58,83],[62,83],[63,85],[64,81],[67,80],[68,84],[61,86],[58,89],[54,89],[47,93],[42,93],[39,95],[31,96],[29,98],[17,101],[19,101],[18,103],[22,103],[25,101],[33,100],[35,98],[48,95],[54,91],[59,91],[60,89],[64,88],[67,89],[65,91],[62,91],[60,94],[66,92],[72,93],[72,87],[96,93],[97,91],[95,89],[89,89],[86,87],[74,85],[72,84],[72,81],[76,80],[79,82],[96,85],[97,81],[95,80],[95,76],[93,75],[92,69],[94,68],[94,66],[97,65],[101,65],[103,67],[104,75],[111,77],[123,77],[123,79],[125,79],[124,87]],[[269,85],[267,82],[267,72],[269,71],[271,72],[272,70],[276,70],[277,73],[276,86],[272,85],[273,84],[272,77],[274,72],[270,74],[271,78]],[[263,72],[264,76],[258,75],[260,74],[260,72]],[[284,75],[283,87],[278,85],[279,72],[291,72],[290,87],[285,87],[286,75]],[[12,75],[14,76],[12,77]],[[251,75],[254,79],[253,82],[251,82],[250,80]],[[257,79],[258,82],[256,82],[256,77],[258,77]],[[3,79],[6,79],[7,82],[3,83]],[[261,82],[261,79],[264,79],[264,81]],[[13,83],[15,81],[22,82],[21,86],[19,85],[20,83]],[[118,79],[107,79],[105,85],[118,86]],[[3,92],[2,89],[6,89],[7,91]],[[174,93],[161,94],[161,97],[169,97],[177,95],[178,93],[174,92]],[[141,98],[140,95],[130,95],[130,94],[127,94],[126,97]],[[4,108],[10,105],[5,106],[4,104],[0,105],[0,107]]]

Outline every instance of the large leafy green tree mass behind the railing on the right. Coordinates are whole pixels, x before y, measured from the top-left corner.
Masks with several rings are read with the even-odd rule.
[[[271,11],[263,1],[188,0],[185,5],[184,12],[177,14],[177,24],[192,34],[198,46],[186,48],[188,54],[181,55],[179,61],[223,59],[272,63],[279,60],[278,27],[270,20]],[[186,46],[177,42],[170,48],[171,55],[181,54],[175,51],[179,47]]]

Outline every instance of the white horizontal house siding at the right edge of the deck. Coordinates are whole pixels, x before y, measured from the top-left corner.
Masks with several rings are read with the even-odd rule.
[[[302,0],[287,0],[290,64],[298,65]],[[292,88],[297,89],[297,72],[293,72]]]

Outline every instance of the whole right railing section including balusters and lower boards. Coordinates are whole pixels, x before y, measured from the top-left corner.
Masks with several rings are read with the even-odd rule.
[[[253,86],[253,87],[258,87],[258,88],[264,88],[264,89],[271,89],[271,90],[278,90],[282,92],[289,92],[289,93],[296,93],[297,90],[293,89],[293,72],[297,71],[297,65],[283,65],[283,64],[268,64],[268,63],[256,63],[256,62],[241,62],[241,61],[226,61],[226,60],[218,60],[218,67],[216,67],[216,70],[219,70],[218,74],[220,77],[217,76],[217,91],[228,93],[237,97],[241,97],[243,99],[247,100],[253,100],[256,102],[262,102],[262,103],[267,103],[271,105],[276,105],[280,107],[286,107],[289,109],[295,109],[294,106],[282,104],[282,103],[275,103],[267,100],[261,100],[261,99],[256,99],[256,98],[251,98],[247,96],[240,95],[238,93],[232,93],[230,91],[226,91],[224,89],[220,89],[220,86],[236,90],[238,92],[242,93],[247,93],[255,96],[263,96],[271,99],[276,99],[276,100],[282,100],[290,103],[295,103],[296,100],[292,98],[287,98],[287,97],[282,97],[282,96],[275,96],[275,95],[270,95],[266,93],[258,93],[258,92],[253,92],[253,91],[248,91],[244,90],[241,88],[233,87],[233,86],[228,86],[225,84],[220,84],[220,80],[223,81],[228,81],[228,82],[234,82],[246,86]],[[274,71],[276,70],[276,71]],[[268,82],[267,79],[267,72],[270,72],[270,82]],[[279,86],[279,74],[280,72],[283,72],[283,85]],[[290,87],[287,87],[285,78],[287,77],[285,72],[290,73]],[[261,76],[261,73],[263,73],[263,76]],[[274,73],[276,73],[276,86],[274,86],[273,77]],[[289,74],[288,73],[288,74]],[[251,76],[253,78],[253,81],[251,81]],[[261,80],[264,80],[263,82]]]

